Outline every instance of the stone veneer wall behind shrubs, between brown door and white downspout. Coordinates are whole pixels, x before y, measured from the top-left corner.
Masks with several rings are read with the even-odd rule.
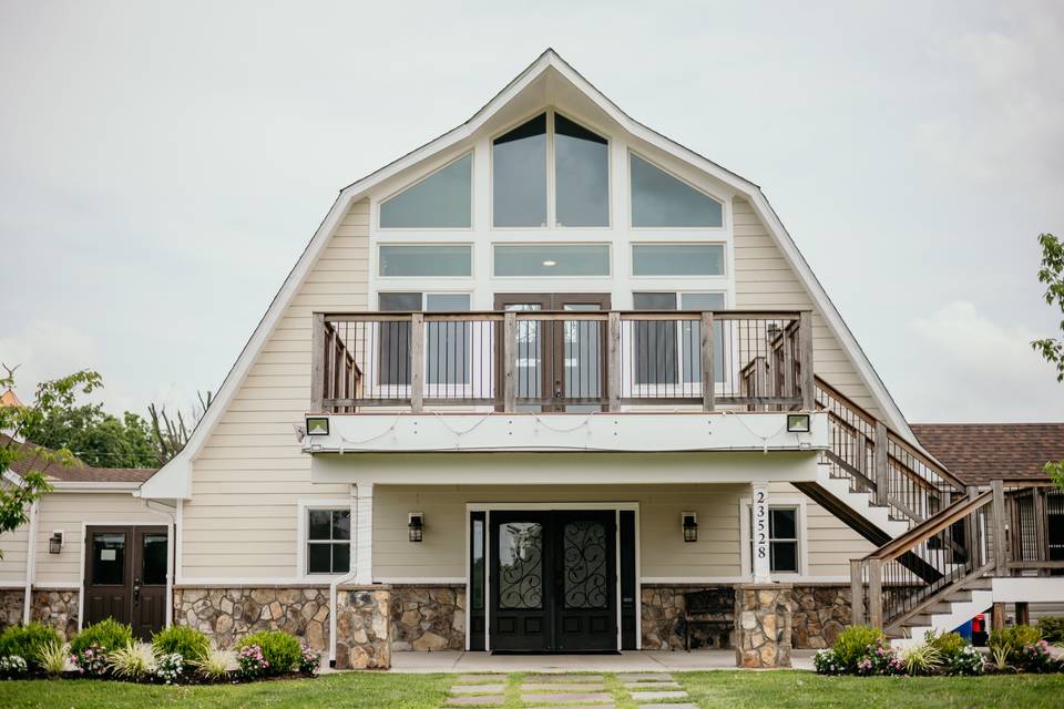
[[[174,588],[174,623],[229,648],[258,630],[285,630],[329,649],[328,586]]]

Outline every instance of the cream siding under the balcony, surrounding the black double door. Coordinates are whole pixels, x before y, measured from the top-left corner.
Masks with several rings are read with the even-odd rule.
[[[464,578],[466,504],[635,502],[643,576],[738,576],[738,500],[748,485],[432,486],[378,485],[374,492],[374,578]],[[687,544],[679,513],[698,514],[698,543]],[[407,514],[424,513],[424,541],[407,538]]]

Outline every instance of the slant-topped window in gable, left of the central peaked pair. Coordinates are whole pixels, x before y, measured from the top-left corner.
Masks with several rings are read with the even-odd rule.
[[[472,225],[472,153],[380,205],[382,229],[468,229]]]

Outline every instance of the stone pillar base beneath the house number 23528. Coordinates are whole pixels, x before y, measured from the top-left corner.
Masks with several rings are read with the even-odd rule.
[[[735,587],[737,667],[790,667],[791,590],[789,584]]]

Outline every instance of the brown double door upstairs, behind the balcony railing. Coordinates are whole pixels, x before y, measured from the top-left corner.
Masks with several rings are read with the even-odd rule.
[[[610,294],[495,294],[497,310],[608,310]],[[523,320],[518,325],[518,399],[530,411],[600,411],[606,323]],[[563,403],[567,400],[569,403]]]

